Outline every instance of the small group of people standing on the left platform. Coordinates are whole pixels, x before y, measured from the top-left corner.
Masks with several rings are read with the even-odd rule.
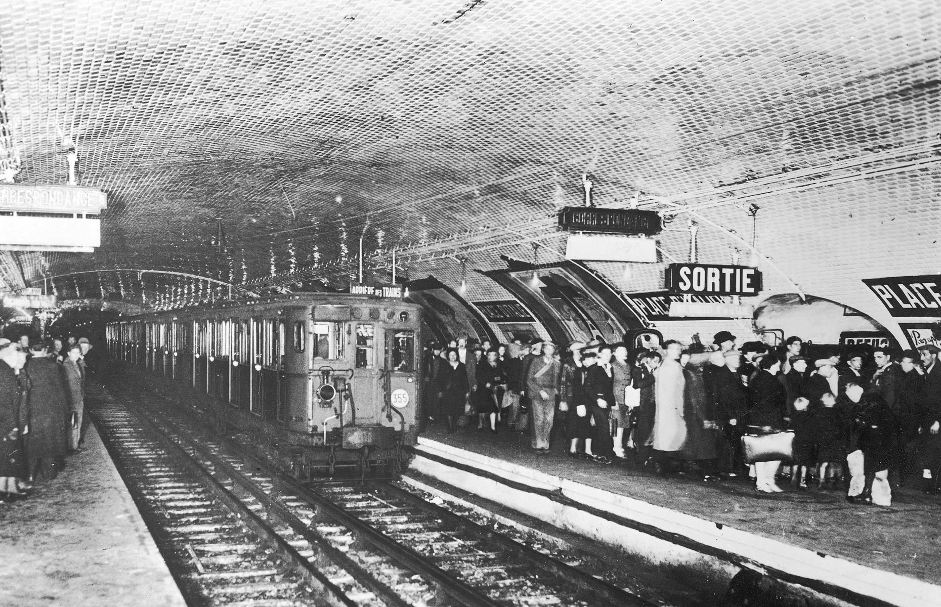
[[[0,502],[26,497],[82,451],[88,339],[0,339]]]

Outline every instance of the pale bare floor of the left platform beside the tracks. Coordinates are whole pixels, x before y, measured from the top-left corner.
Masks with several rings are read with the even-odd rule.
[[[0,606],[183,607],[101,437],[25,500],[0,503]]]

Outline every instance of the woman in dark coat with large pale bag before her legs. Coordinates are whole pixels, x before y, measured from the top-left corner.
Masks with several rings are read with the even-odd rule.
[[[788,391],[778,380],[781,359],[772,354],[758,360],[758,371],[749,382],[748,396],[751,401],[749,423],[760,426],[763,433],[780,432],[787,427]],[[779,493],[783,489],[774,482],[774,473],[781,461],[759,461],[755,463],[756,489],[762,493]]]

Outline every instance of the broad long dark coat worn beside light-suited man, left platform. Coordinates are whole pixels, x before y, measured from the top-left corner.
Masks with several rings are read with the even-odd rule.
[[[65,375],[55,359],[34,357],[26,363],[29,391],[30,459],[51,459],[69,450],[67,429],[71,408],[66,396]]]

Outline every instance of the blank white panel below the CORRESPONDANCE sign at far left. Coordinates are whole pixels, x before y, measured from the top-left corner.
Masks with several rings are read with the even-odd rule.
[[[93,252],[102,244],[99,219],[0,216],[0,248]]]

